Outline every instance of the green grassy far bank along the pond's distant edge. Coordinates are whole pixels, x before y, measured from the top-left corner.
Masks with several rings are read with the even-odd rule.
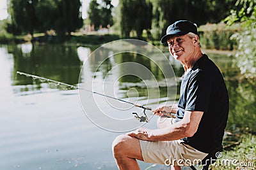
[[[210,26],[212,29],[208,30],[203,27],[199,30],[200,42],[202,48],[207,49],[217,49],[217,50],[236,50],[237,43],[234,39],[230,39],[230,36],[234,33],[233,29],[227,30],[221,27],[219,32],[216,32],[215,27]],[[208,27],[207,27],[208,28]],[[129,37],[130,39],[138,39],[136,37]],[[33,37],[30,34],[13,36],[8,34],[6,31],[1,31],[0,44],[8,43],[24,43],[24,42],[39,42],[39,43],[74,43],[83,46],[91,45],[102,45],[110,41],[115,41],[117,39],[124,39],[120,37],[118,32],[106,32],[100,33],[97,31],[88,32],[84,34],[83,32],[72,32],[70,35],[46,35],[44,32],[35,33]],[[146,34],[141,38],[143,41],[156,46],[162,45],[159,39],[152,39]],[[164,44],[164,46],[167,46]]]

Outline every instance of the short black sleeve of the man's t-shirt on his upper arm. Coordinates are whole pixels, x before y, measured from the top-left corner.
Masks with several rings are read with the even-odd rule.
[[[208,111],[211,99],[211,80],[202,71],[197,71],[191,74],[187,88],[185,110]]]

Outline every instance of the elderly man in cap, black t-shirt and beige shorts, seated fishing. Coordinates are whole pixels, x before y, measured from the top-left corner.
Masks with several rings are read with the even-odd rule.
[[[228,92],[218,67],[202,53],[196,26],[179,20],[170,25],[161,43],[184,67],[178,104],[161,106],[159,129],[140,127],[113,141],[119,169],[140,169],[138,160],[191,166],[222,145],[228,117]],[[176,113],[176,118],[164,117]]]

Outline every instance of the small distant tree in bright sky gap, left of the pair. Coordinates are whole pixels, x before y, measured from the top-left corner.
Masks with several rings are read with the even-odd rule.
[[[100,4],[97,3],[97,0],[92,0],[89,4],[88,20],[90,25],[94,25],[95,29],[99,29],[101,24],[101,11]]]

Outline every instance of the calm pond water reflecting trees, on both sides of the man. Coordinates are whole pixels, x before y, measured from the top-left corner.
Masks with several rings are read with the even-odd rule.
[[[117,169],[111,153],[113,139],[145,124],[132,115],[137,111],[143,116],[143,110],[131,104],[36,80],[17,71],[152,108],[166,101],[177,102],[183,68],[166,49],[161,50],[165,59],[154,60],[138,53],[116,54],[112,48],[95,49],[31,43],[0,46],[0,169]],[[220,67],[227,83],[227,131],[255,131],[255,83],[237,78],[239,68],[232,55],[207,54]],[[172,64],[174,74],[163,76],[168,64]],[[145,126],[156,128],[157,117],[150,111],[147,115],[150,123]],[[111,118],[118,121],[111,122]],[[141,169],[151,165],[139,163]]]

